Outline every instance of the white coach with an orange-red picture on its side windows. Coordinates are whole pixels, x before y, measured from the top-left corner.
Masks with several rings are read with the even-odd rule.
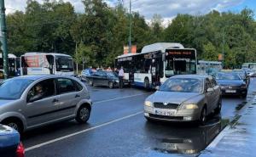
[[[20,57],[20,75],[73,76],[73,58],[62,53],[25,53]]]

